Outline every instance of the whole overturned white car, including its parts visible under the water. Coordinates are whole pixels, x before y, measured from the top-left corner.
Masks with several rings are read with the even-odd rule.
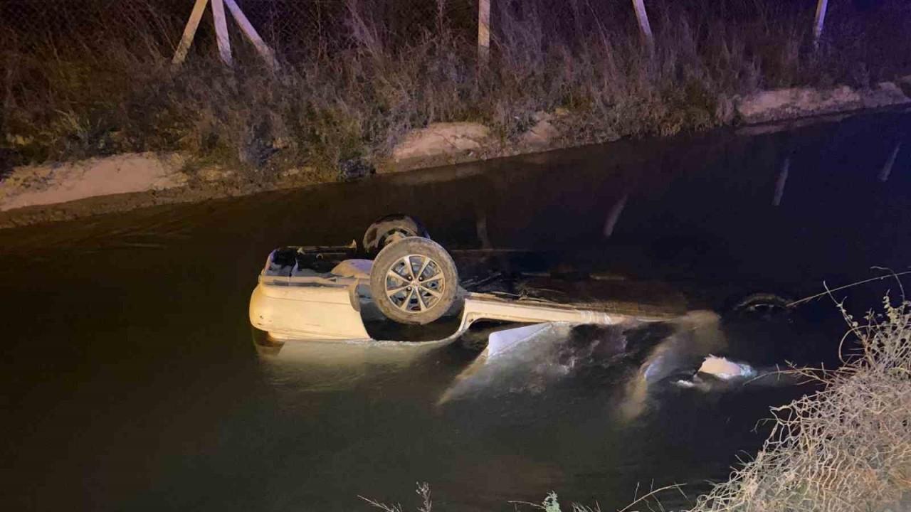
[[[457,255],[460,262],[468,256]],[[440,405],[501,388],[534,393],[549,382],[621,364],[639,367],[618,405],[627,419],[644,410],[650,388],[660,384],[703,392],[748,382],[791,384],[773,368],[713,355],[729,348],[721,316],[688,311],[685,301],[675,307],[667,302],[669,289],[634,293],[633,307],[616,289],[605,301],[578,289],[548,288],[559,294],[553,300],[535,293],[544,290],[537,282],[520,293],[496,292],[466,273],[470,277],[460,282],[450,254],[404,216],[374,222],[360,249],[356,242],[283,247],[269,255],[251,296],[253,340],[269,363],[292,364],[294,371],[302,361],[310,369],[368,360],[410,364],[459,340],[478,355],[440,396]],[[545,279],[548,287],[558,286]],[[618,286],[635,288],[624,281]],[[637,301],[649,297],[665,302],[650,310]],[[733,312],[763,318],[777,303],[770,297],[752,295]],[[415,328],[419,340],[408,335]]]

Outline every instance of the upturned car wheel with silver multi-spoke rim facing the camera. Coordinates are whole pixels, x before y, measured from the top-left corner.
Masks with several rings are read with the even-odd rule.
[[[383,314],[398,323],[434,322],[458,290],[452,256],[435,241],[409,237],[384,247],[370,272],[370,291]]]

